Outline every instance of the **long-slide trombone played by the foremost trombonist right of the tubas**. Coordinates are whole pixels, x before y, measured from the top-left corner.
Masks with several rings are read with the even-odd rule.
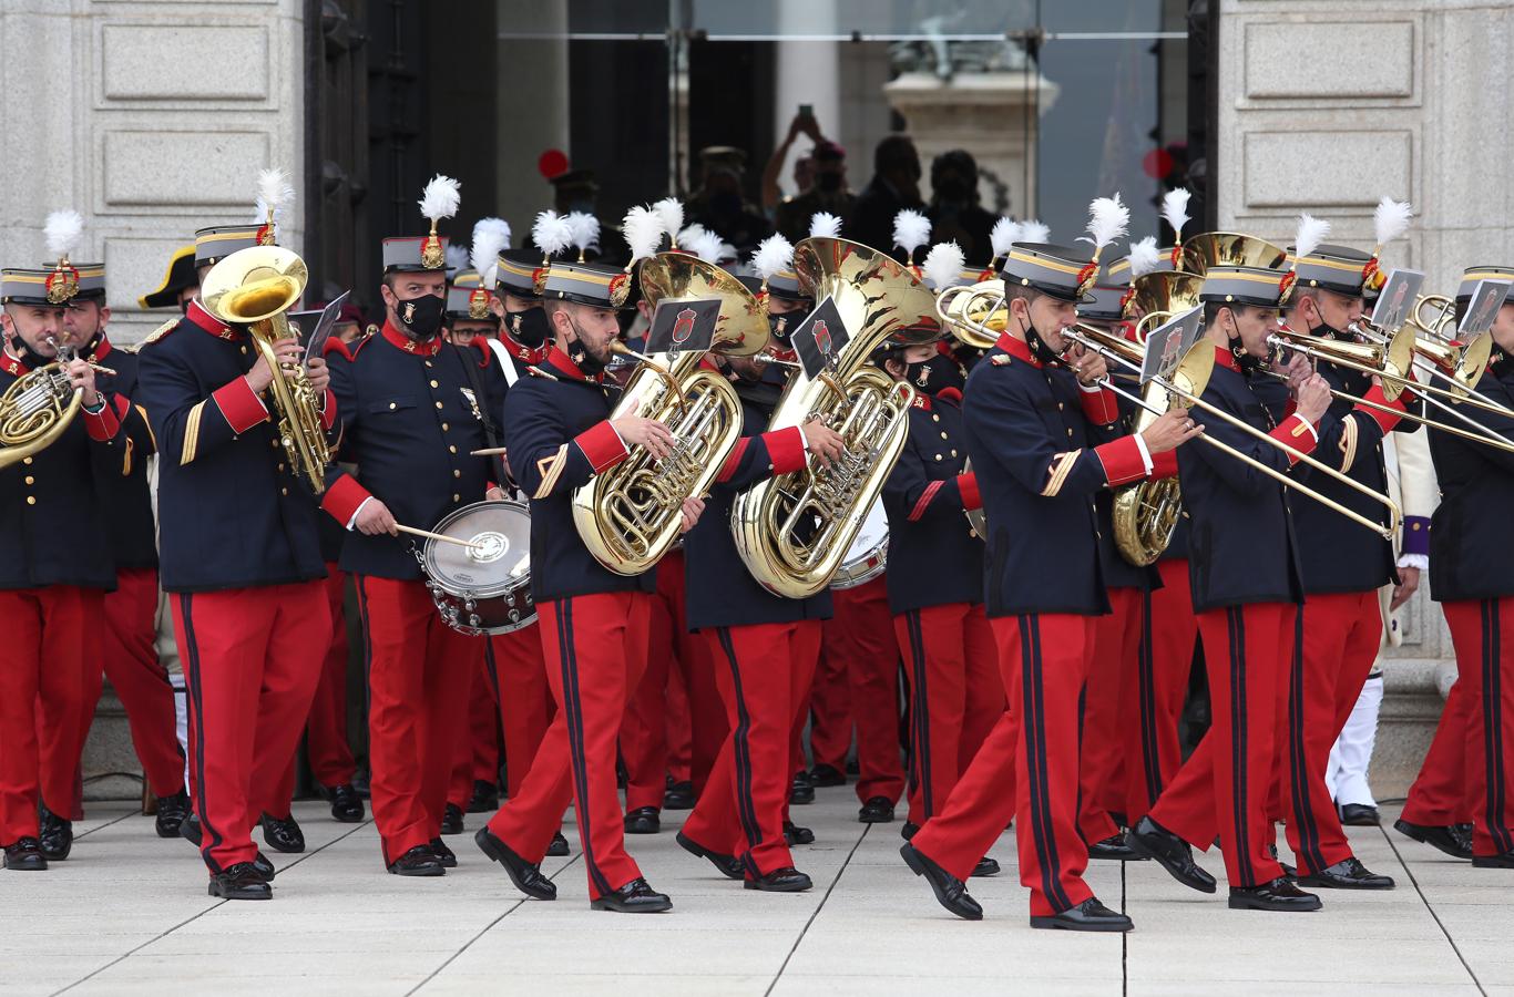
[[[1120,339],[1119,336],[1114,336],[1111,333],[1105,333],[1104,330],[1093,328],[1090,325],[1075,325],[1075,327],[1070,327],[1070,328],[1064,328],[1064,330],[1061,330],[1061,334],[1063,334],[1063,337],[1070,339],[1072,342],[1084,346],[1086,349],[1092,349],[1092,351],[1098,353],[1104,359],[1111,360],[1111,362],[1120,365],[1122,368],[1132,369],[1132,371],[1137,371],[1137,372],[1142,369],[1140,360],[1142,360],[1142,353],[1143,351],[1142,351],[1140,346],[1137,346],[1136,343],[1132,343],[1129,340]],[[1204,440],[1205,443],[1208,443],[1210,446],[1219,448],[1222,452],[1229,454],[1231,457],[1240,460],[1241,463],[1251,466],[1255,471],[1260,471],[1261,474],[1264,474],[1269,478],[1278,481],[1284,487],[1291,489],[1291,490],[1294,490],[1299,495],[1304,495],[1307,498],[1311,498],[1316,502],[1320,502],[1326,508],[1329,508],[1329,510],[1332,510],[1335,513],[1340,513],[1346,519],[1350,519],[1352,522],[1355,522],[1355,523],[1358,523],[1361,526],[1366,526],[1367,530],[1379,534],[1382,539],[1385,539],[1385,540],[1391,540],[1393,539],[1393,534],[1399,530],[1399,526],[1403,522],[1403,510],[1400,510],[1399,505],[1397,505],[1397,502],[1394,502],[1391,498],[1388,498],[1387,495],[1382,495],[1381,492],[1373,492],[1367,486],[1361,484],[1360,481],[1352,480],[1350,477],[1341,474],[1340,471],[1335,471],[1329,464],[1325,464],[1325,463],[1316,460],[1314,457],[1310,457],[1308,454],[1305,454],[1301,449],[1288,446],[1282,440],[1278,440],[1278,439],[1275,439],[1275,437],[1263,433],[1261,430],[1258,430],[1257,427],[1251,425],[1245,419],[1241,419],[1238,416],[1234,416],[1234,415],[1225,412],[1223,408],[1220,408],[1219,405],[1213,405],[1213,404],[1204,401],[1202,398],[1199,398],[1199,395],[1204,393],[1204,387],[1208,384],[1210,374],[1211,374],[1213,369],[1214,369],[1214,349],[1213,349],[1213,345],[1201,339],[1198,343],[1195,343],[1188,349],[1187,354],[1184,354],[1184,357],[1178,363],[1178,369],[1173,372],[1172,378],[1160,378],[1158,377],[1158,378],[1152,378],[1152,380],[1157,384],[1160,384],[1161,387],[1164,387],[1167,390],[1169,396],[1179,398],[1184,402],[1187,402],[1188,405],[1192,405],[1195,408],[1201,408],[1201,410],[1204,410],[1204,412],[1216,416],[1217,419],[1222,419],[1223,422],[1228,422],[1229,425],[1235,427],[1237,430],[1241,430],[1248,436],[1254,436],[1258,440],[1263,440],[1264,443],[1284,451],[1285,454],[1288,454],[1290,457],[1293,457],[1296,461],[1299,461],[1302,464],[1308,464],[1314,471],[1319,471],[1320,474],[1328,475],[1328,477],[1334,478],[1335,481],[1340,481],[1341,484],[1344,484],[1344,486],[1347,486],[1347,487],[1350,487],[1350,489],[1354,489],[1357,492],[1361,492],[1363,495],[1366,495],[1372,501],[1381,504],[1387,510],[1387,513],[1388,513],[1388,522],[1387,522],[1387,525],[1384,525],[1384,523],[1381,523],[1381,522],[1378,522],[1375,519],[1369,519],[1367,516],[1363,516],[1357,510],[1347,508],[1347,507],[1341,505],[1340,502],[1328,498],[1326,495],[1322,495],[1320,492],[1316,492],[1314,489],[1311,489],[1308,486],[1299,484],[1297,481],[1294,481],[1293,478],[1290,478],[1287,474],[1278,471],[1276,467],[1272,467],[1270,464],[1264,464],[1260,460],[1257,460],[1257,458],[1254,458],[1254,457],[1251,457],[1248,454],[1240,452],[1238,449],[1235,449],[1234,446],[1231,446],[1231,445],[1228,445],[1228,443],[1225,443],[1222,440],[1217,440],[1217,439],[1214,439],[1211,436],[1199,436],[1199,439]],[[1154,405],[1152,402],[1146,401],[1145,398],[1142,398],[1139,395],[1134,395],[1131,392],[1126,392],[1126,390],[1117,387],[1113,383],[1111,378],[1105,378],[1102,381],[1102,384],[1104,384],[1104,387],[1108,387],[1110,390],[1113,390],[1116,395],[1120,395],[1122,398],[1126,398],[1128,401],[1136,402],[1142,408],[1145,408],[1148,412],[1154,412],[1155,410],[1157,415],[1161,415],[1161,410],[1157,405]]]

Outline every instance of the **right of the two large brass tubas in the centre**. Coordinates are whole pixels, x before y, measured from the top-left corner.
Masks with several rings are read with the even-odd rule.
[[[804,599],[830,584],[910,431],[914,389],[869,363],[889,336],[936,313],[936,295],[883,253],[833,238],[793,250],[799,286],[830,300],[849,339],[819,377],[799,371],[769,430],[822,419],[846,451],[830,467],[804,467],[736,496],[731,533],[746,570],[768,592]],[[934,339],[934,331],[922,337]]]

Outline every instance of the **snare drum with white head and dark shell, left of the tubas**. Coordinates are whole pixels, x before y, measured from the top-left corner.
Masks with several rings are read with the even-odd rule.
[[[531,602],[531,514],[522,502],[474,502],[450,513],[435,533],[472,546],[427,540],[425,585],[442,620],[480,637],[536,622]]]

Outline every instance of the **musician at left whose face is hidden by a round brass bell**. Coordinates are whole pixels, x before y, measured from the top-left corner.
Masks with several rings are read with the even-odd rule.
[[[207,266],[273,238],[271,224],[200,230],[201,280]],[[273,353],[283,368],[303,356],[292,336]],[[268,900],[274,867],[251,828],[262,823],[280,850],[304,847],[289,834],[298,826],[286,779],[330,643],[318,510],[265,399],[282,374],[245,325],[227,325],[195,298],[183,319],[144,340],[139,357],[136,401],[157,439],[157,508],[171,523],[159,542],[160,581],[189,696],[198,820],[185,820],[180,835],[198,844],[210,896]],[[306,371],[330,430],[326,362],[310,357]]]

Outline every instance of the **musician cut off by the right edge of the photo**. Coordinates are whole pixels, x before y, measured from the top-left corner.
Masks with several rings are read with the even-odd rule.
[[[1463,274],[1456,309],[1466,315],[1481,280],[1514,281],[1514,266],[1473,266]],[[1493,354],[1478,390],[1514,407],[1514,290],[1493,321]],[[1514,439],[1514,419],[1473,405],[1456,408],[1491,433]],[[1509,516],[1514,458],[1431,428],[1431,455],[1441,504],[1429,531],[1429,589],[1446,613],[1456,648],[1456,684],[1435,740],[1410,788],[1396,828],[1479,868],[1514,868],[1514,564]],[[1472,822],[1470,841],[1456,828]]]

